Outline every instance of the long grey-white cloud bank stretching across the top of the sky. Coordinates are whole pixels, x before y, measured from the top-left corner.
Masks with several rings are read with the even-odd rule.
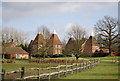
[[[102,5],[102,6],[101,6]],[[3,21],[28,16],[47,16],[84,9],[105,9],[113,7],[110,3],[74,3],[74,2],[4,2],[2,4]]]

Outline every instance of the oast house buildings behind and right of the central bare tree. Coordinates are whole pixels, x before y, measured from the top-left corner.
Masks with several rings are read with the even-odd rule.
[[[108,49],[100,49],[100,46],[94,36],[90,36],[88,39],[82,38],[84,41],[81,46],[81,52],[84,57],[92,56],[107,56],[109,53]],[[71,37],[66,44],[66,51],[68,55],[71,55],[71,48],[74,47],[75,39]]]

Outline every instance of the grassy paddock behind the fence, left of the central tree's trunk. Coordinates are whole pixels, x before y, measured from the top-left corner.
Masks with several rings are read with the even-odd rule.
[[[34,58],[36,59],[36,58]],[[63,59],[63,60],[75,60],[75,58],[69,58],[69,57],[65,57],[65,58],[46,58],[45,60],[48,59]],[[8,60],[8,59],[5,59]],[[9,71],[13,71],[13,70],[18,70],[21,67],[26,67],[26,68],[46,68],[46,67],[51,67],[51,66],[57,66],[57,65],[61,65],[61,64],[65,64],[65,63],[52,63],[52,64],[48,64],[48,63],[29,63],[29,60],[13,60],[15,61],[15,63],[4,63],[2,64],[2,68],[5,69],[7,72]]]

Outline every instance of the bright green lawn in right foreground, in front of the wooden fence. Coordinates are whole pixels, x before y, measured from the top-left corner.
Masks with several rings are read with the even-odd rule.
[[[93,69],[68,75],[61,79],[118,79],[118,63],[102,62]]]

